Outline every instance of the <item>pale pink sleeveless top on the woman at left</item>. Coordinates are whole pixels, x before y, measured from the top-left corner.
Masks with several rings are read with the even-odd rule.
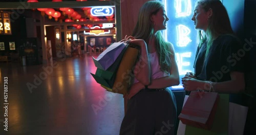
[[[157,79],[157,78],[168,76],[167,73],[161,71],[160,69],[157,52],[148,54],[148,59],[150,60],[151,79]],[[136,82],[138,82],[138,80],[134,78],[134,83]]]

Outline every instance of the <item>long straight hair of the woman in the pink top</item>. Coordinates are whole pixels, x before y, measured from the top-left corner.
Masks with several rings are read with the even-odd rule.
[[[148,44],[154,34],[154,24],[151,21],[151,16],[157,14],[161,8],[163,8],[163,4],[158,1],[148,1],[143,4],[132,36],[143,39]],[[170,73],[170,55],[172,54],[168,47],[170,43],[163,39],[160,31],[156,33],[155,44],[161,70]]]

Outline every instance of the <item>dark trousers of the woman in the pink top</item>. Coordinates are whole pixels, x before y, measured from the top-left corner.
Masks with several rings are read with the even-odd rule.
[[[176,99],[170,89],[140,91],[127,102],[120,135],[173,135],[176,118]]]

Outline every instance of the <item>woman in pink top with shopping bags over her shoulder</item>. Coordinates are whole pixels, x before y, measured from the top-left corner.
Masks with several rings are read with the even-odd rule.
[[[166,87],[179,84],[179,72],[174,47],[160,32],[168,20],[158,1],[140,9],[131,43],[139,44],[141,53],[120,134],[175,134],[176,100]]]

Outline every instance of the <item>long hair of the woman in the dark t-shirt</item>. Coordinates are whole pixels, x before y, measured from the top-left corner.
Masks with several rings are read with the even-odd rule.
[[[219,35],[234,35],[230,25],[230,20],[227,14],[226,8],[220,2],[220,0],[199,0],[196,2],[198,6],[207,12],[210,8],[212,9],[212,16],[208,19],[208,27],[206,34],[208,35],[207,49],[205,57],[209,54],[210,47],[214,41],[214,37]],[[200,30],[198,32],[200,45],[207,40],[206,35],[202,34]]]

